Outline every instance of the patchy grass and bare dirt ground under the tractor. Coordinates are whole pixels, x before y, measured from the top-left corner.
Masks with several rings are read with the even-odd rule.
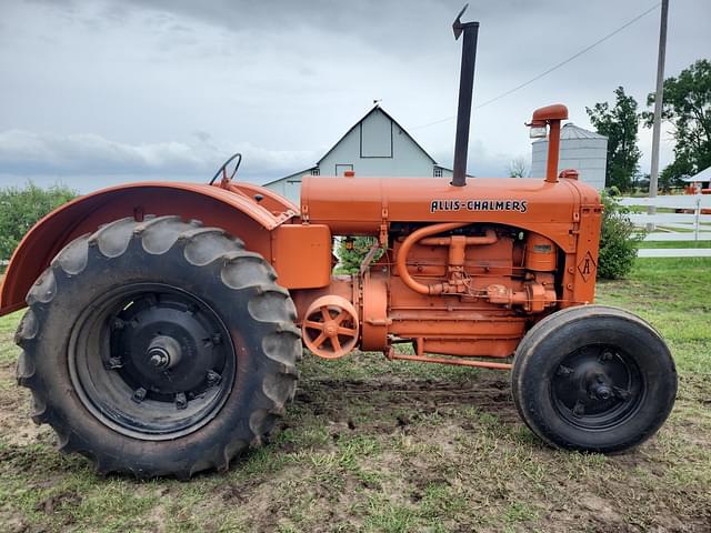
[[[599,302],[667,338],[677,406],[621,455],[535,439],[508,375],[358,353],[301,364],[270,442],[191,482],[96,475],[53,449],[14,385],[20,314],[0,319],[0,531],[711,531],[711,259],[638,260]]]

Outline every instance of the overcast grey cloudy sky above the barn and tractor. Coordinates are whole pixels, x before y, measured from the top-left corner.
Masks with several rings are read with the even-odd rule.
[[[463,0],[0,0],[0,184],[82,192],[211,177],[241,151],[242,179],[311,167],[382,99],[441,164],[452,159]],[[472,1],[474,105],[615,30],[654,0]],[[667,76],[711,57],[711,1],[671,0]],[[534,108],[654,88],[659,9],[545,78],[475,110],[469,172],[530,158]],[[649,172],[651,131],[640,130]],[[661,163],[673,143],[662,138]]]

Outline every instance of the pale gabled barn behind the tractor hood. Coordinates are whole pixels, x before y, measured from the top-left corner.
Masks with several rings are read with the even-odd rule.
[[[451,178],[380,105],[373,107],[326,154],[309,168],[264,183],[264,187],[299,204],[303,175]]]

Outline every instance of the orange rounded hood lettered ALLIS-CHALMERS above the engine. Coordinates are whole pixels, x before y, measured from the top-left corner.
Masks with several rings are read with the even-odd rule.
[[[599,207],[598,192],[574,179],[304,177],[301,217],[332,234],[375,235],[393,222],[487,222],[537,231],[572,250],[581,207]]]

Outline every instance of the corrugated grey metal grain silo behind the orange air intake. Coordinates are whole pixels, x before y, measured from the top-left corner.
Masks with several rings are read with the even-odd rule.
[[[548,139],[533,141],[531,153],[531,178],[545,175],[548,161]],[[604,189],[605,163],[608,161],[608,138],[593,131],[583,130],[573,123],[564,124],[560,131],[560,159],[558,172],[575,169],[580,180],[598,190]]]

